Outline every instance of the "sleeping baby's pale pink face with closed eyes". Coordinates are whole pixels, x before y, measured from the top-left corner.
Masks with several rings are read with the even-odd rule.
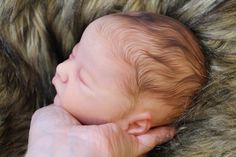
[[[127,68],[117,63],[110,46],[90,24],[70,57],[57,66],[54,103],[84,124],[114,122],[127,112],[129,100],[121,90]]]

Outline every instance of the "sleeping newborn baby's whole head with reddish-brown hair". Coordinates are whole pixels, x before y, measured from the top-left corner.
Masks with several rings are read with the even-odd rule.
[[[111,14],[92,22],[57,66],[54,104],[83,124],[115,122],[140,135],[174,122],[205,75],[196,39],[176,20]]]

